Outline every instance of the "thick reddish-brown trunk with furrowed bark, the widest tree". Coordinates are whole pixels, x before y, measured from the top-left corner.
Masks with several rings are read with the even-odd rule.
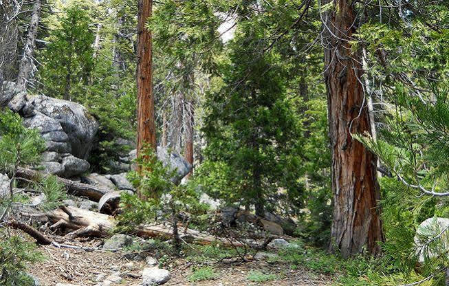
[[[351,133],[371,133],[361,83],[362,61],[359,52],[351,52],[349,43],[356,30],[355,13],[348,0],[333,3],[336,7],[322,14],[334,196],[330,250],[339,248],[346,258],[364,248],[377,254],[383,235],[377,208],[377,158],[351,137]]]

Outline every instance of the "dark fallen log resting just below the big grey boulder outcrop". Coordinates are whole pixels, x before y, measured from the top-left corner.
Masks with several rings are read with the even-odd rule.
[[[21,177],[23,179],[28,179],[32,181],[36,181],[43,176],[45,176],[45,174],[39,171],[21,167],[18,168],[16,174],[16,177]],[[58,176],[56,176],[56,178],[58,179],[59,184],[65,186],[65,189],[67,190],[67,193],[69,195],[76,195],[78,197],[87,197],[91,201],[98,202],[100,201],[103,195],[113,191],[110,190],[109,188],[102,188],[99,186],[83,184],[78,181],[72,181]]]

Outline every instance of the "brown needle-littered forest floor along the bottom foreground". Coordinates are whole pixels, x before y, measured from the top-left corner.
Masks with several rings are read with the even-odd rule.
[[[72,245],[91,248],[101,241],[72,241]],[[71,285],[102,285],[101,281],[108,276],[120,272],[122,281],[111,285],[138,286],[142,282],[141,274],[145,261],[131,261],[123,252],[108,252],[102,250],[87,251],[83,249],[56,248],[54,245],[40,246],[38,250],[45,256],[45,260],[30,265],[29,273],[39,279],[42,286],[54,286],[57,283]],[[267,261],[250,261],[246,263],[225,264],[213,263],[216,277],[212,280],[190,282],[189,278],[195,270],[195,265],[184,259],[174,260],[167,270],[171,272],[171,279],[165,285],[331,285],[333,277],[316,274],[305,268],[298,267],[290,270],[287,263]],[[250,281],[250,274],[261,273],[270,278],[263,282]],[[254,275],[254,274],[253,274]],[[257,276],[257,274],[256,274]]]

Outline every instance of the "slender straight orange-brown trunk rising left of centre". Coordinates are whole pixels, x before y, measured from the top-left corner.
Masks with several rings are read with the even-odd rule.
[[[139,0],[138,14],[138,156],[144,144],[156,151],[151,32],[145,23],[151,17],[153,1]]]

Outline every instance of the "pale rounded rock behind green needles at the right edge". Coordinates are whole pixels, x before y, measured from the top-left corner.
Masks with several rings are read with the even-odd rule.
[[[443,232],[444,231],[444,232]],[[443,235],[441,235],[443,232]],[[430,218],[423,221],[416,230],[416,235],[414,238],[415,241],[415,253],[418,256],[418,263],[424,263],[424,258],[428,254],[429,258],[447,255],[449,252],[449,240],[448,239],[439,239],[437,245],[438,248],[432,248],[432,251],[426,248],[424,239],[433,239],[435,236],[440,235],[440,237],[448,237],[449,236],[449,219],[445,219],[442,217]],[[426,254],[426,255],[425,255]]]

